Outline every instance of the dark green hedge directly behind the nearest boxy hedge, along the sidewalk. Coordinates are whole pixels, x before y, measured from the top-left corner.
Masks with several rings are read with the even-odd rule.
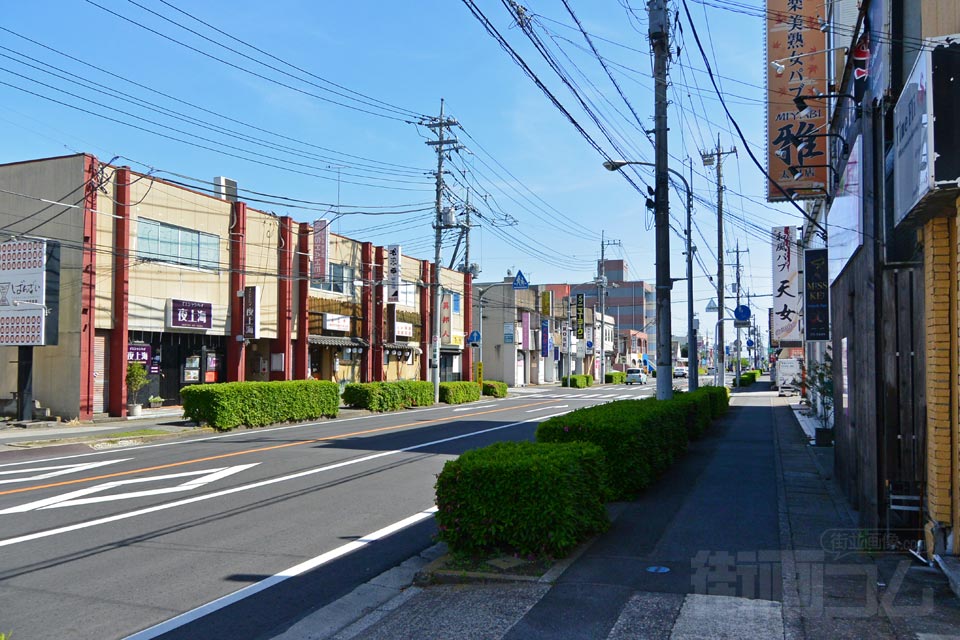
[[[592,442],[607,461],[609,497],[629,499],[687,447],[683,402],[622,400],[577,409],[541,422],[537,442]]]

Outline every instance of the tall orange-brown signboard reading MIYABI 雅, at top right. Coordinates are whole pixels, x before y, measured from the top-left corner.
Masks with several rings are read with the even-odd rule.
[[[828,93],[827,36],[817,20],[823,7],[822,1],[767,0],[767,168],[788,194],[769,183],[769,202],[822,197],[827,188],[828,138],[810,137],[827,124],[827,100],[811,97]],[[801,110],[795,100],[805,96],[811,98]]]

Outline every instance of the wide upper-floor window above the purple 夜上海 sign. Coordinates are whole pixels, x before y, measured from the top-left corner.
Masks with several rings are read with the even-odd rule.
[[[198,269],[219,269],[220,237],[140,218],[137,221],[137,257]]]

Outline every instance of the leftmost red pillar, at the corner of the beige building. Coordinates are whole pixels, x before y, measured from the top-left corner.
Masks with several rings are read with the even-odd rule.
[[[83,167],[83,255],[80,264],[80,419],[93,417],[94,309],[97,290],[97,187],[100,163],[85,155]],[[126,353],[124,353],[126,357]],[[124,373],[125,375],[125,373]]]

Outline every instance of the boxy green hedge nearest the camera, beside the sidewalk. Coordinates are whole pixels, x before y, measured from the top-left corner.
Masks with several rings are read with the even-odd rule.
[[[457,554],[560,557],[609,526],[603,452],[589,443],[499,442],[437,476],[438,537]]]

